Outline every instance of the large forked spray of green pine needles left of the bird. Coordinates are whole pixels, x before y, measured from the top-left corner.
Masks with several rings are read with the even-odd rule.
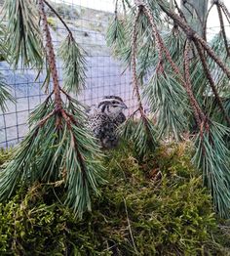
[[[91,210],[90,194],[99,193],[97,187],[103,182],[104,169],[96,139],[85,128],[86,116],[79,103],[72,99],[62,104],[72,114],[70,117],[78,119],[74,123],[65,122],[53,113],[45,125],[38,122],[54,109],[51,98],[33,112],[29,120],[31,132],[0,173],[0,199],[9,198],[19,184],[31,186],[37,181],[64,184],[64,202],[81,218],[83,212]]]

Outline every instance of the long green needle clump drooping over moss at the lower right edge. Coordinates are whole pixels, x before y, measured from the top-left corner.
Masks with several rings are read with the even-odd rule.
[[[225,126],[211,123],[210,130],[197,137],[193,158],[197,167],[203,170],[204,183],[211,190],[217,211],[225,218],[230,216],[230,151],[223,138],[229,132]]]

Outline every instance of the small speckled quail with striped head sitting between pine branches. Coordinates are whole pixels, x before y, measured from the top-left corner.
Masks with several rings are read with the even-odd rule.
[[[113,149],[118,145],[116,130],[126,120],[123,110],[128,108],[118,96],[105,96],[89,114],[89,128],[103,149]]]

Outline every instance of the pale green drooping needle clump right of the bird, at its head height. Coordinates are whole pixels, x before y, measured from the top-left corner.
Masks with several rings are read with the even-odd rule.
[[[144,89],[144,95],[151,112],[157,115],[159,136],[173,136],[179,140],[181,134],[188,130],[190,108],[184,88],[173,76],[170,72],[155,72]]]

